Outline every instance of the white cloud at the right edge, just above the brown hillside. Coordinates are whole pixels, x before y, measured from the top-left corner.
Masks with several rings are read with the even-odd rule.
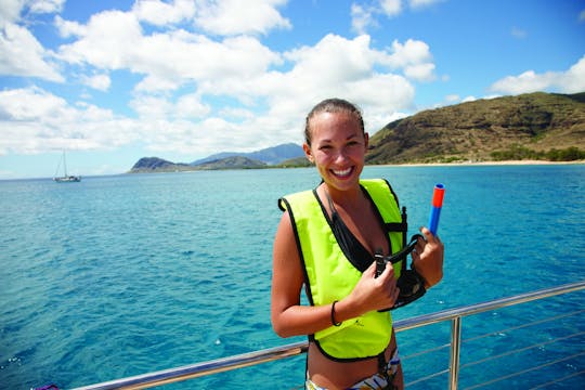
[[[585,56],[567,72],[537,74],[534,70],[526,70],[519,76],[508,76],[494,82],[490,90],[504,94],[537,91],[583,92],[585,90]]]

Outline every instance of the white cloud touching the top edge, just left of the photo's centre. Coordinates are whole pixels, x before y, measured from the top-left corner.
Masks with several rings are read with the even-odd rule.
[[[195,23],[208,32],[222,36],[289,29],[290,22],[277,11],[285,3],[286,0],[200,0]]]

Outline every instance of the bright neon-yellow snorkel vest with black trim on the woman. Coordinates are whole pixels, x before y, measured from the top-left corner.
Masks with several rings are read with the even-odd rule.
[[[390,239],[392,253],[402,249],[405,221],[402,221],[398,198],[390,184],[382,179],[361,180],[378,209]],[[299,256],[304,268],[307,296],[312,306],[330,304],[347,297],[360,281],[359,271],[346,257],[324,214],[316,192],[304,191],[280,199],[292,222]],[[400,276],[402,261],[393,264]],[[392,334],[389,311],[370,311],[356,318],[330,326],[309,338],[333,360],[348,361],[377,356]]]

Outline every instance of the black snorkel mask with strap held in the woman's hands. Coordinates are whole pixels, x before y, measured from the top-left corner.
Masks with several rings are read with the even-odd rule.
[[[402,270],[400,277],[396,281],[396,286],[400,288],[399,297],[394,302],[394,306],[388,309],[379,310],[380,312],[393,310],[406,306],[411,302],[414,302],[418,298],[422,297],[427,289],[425,288],[425,280],[416,270],[406,269],[407,256],[416,247],[418,238],[425,239],[420,234],[415,234],[411,237],[411,242],[406,245],[401,251],[392,256],[382,256],[381,253],[374,255],[376,259],[376,277],[378,277],[384,270],[386,270],[387,264],[394,264],[402,260]]]

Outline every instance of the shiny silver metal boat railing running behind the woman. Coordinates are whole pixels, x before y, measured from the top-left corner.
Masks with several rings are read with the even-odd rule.
[[[540,300],[548,297],[554,297],[562,294],[574,292],[585,289],[585,281],[571,283],[558,287],[536,290],[532,292],[521,294],[509,298],[496,299],[479,304],[466,306],[457,309],[450,309],[432,314],[416,316],[396,321],[394,323],[395,332],[404,332],[431,324],[437,324],[445,321],[451,321],[451,360],[448,368],[438,374],[448,373],[448,388],[456,390],[459,377],[459,353],[461,344],[461,317],[470,316],[496,309],[510,307],[515,304],[525,303],[534,300]],[[155,386],[168,385],[182,380],[198,378],[232,369],[258,365],[261,363],[277,361],[285,358],[291,358],[306,353],[308,342],[301,341],[286,344],[283,347],[270,348],[250,353],[238,354],[224,359],[212,360],[192,365],[153,372],[148,374],[116,379],[112,381],[90,385],[77,388],[76,390],[106,390],[106,389],[146,389]],[[577,355],[582,355],[580,353]],[[582,374],[582,373],[577,373]]]

